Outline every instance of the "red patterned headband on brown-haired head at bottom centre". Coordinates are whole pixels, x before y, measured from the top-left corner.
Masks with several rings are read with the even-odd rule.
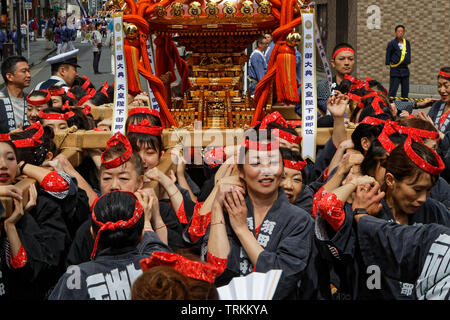
[[[168,266],[186,277],[209,283],[214,283],[219,274],[219,269],[211,263],[190,260],[170,252],[155,251],[150,258],[142,259],[139,263],[142,271],[156,266]]]

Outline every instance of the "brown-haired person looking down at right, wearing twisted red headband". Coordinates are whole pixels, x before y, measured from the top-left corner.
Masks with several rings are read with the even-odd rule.
[[[397,147],[393,144],[393,149],[388,147],[391,144],[387,143],[387,140],[382,142],[390,152],[382,164],[385,168],[381,185],[383,192],[380,192],[380,184],[374,180],[367,180],[365,183],[362,181],[361,184],[356,181],[362,178],[347,177],[344,185],[322,194],[320,200],[315,203],[319,212],[316,218],[316,236],[321,246],[334,248],[335,258],[332,259],[334,261],[332,266],[335,271],[341,270],[342,266],[339,265],[342,261],[348,261],[344,268],[352,270],[350,273],[337,271],[341,284],[338,291],[349,294],[352,299],[413,298],[410,291],[404,290],[410,284],[401,284],[389,279],[382,270],[380,286],[369,288],[365,285],[373,272],[366,272],[367,266],[358,257],[357,239],[353,228],[354,214],[368,212],[400,224],[450,225],[447,207],[428,197],[430,189],[443,169],[442,160],[432,149],[413,141],[412,137],[417,139],[417,136],[410,134],[404,143],[400,143]],[[392,139],[392,136],[388,136],[387,139]],[[376,142],[373,142],[371,149],[375,146]],[[361,169],[363,167],[361,165]],[[363,197],[363,194],[369,196]],[[355,274],[363,276],[356,279]],[[356,287],[352,283],[359,284]]]

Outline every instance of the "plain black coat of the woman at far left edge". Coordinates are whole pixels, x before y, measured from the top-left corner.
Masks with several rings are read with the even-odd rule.
[[[68,231],[60,207],[42,190],[36,206],[17,222],[16,229],[27,255],[23,268],[12,269],[6,256],[6,235],[0,238],[0,265],[4,283],[4,297],[11,299],[43,300],[47,291],[64,272]],[[0,298],[2,295],[0,294]]]

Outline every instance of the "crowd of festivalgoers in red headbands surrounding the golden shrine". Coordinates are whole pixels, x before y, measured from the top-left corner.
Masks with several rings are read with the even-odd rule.
[[[332,56],[334,89],[319,96],[332,135],[315,161],[274,112],[242,144],[205,150],[200,179],[177,147],[174,169],[159,169],[167,146],[145,92],[129,95],[125,133],[74,167],[55,134],[111,130],[90,112],[113,103],[113,84],[80,76],[62,53],[26,94],[27,60],[6,59],[0,195],[14,206],[1,218],[0,299],[209,300],[272,269],[274,299],[449,299],[450,67],[436,73],[440,100],[396,104],[351,75],[351,45]],[[26,203],[24,177],[37,182]]]

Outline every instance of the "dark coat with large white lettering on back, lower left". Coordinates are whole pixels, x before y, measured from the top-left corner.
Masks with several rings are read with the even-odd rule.
[[[94,260],[68,268],[49,300],[129,300],[131,287],[142,274],[139,261],[154,251],[170,249],[151,231],[135,247],[100,250]]]

